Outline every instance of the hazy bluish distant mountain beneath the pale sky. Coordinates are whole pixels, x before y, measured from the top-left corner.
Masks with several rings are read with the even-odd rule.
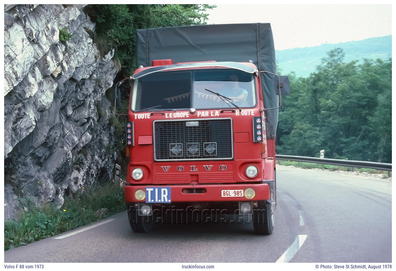
[[[295,72],[297,76],[308,77],[315,71],[322,57],[331,49],[341,47],[345,52],[345,61],[369,59],[388,59],[392,57],[392,36],[368,38],[339,44],[322,44],[314,47],[276,50],[276,62],[281,74]]]

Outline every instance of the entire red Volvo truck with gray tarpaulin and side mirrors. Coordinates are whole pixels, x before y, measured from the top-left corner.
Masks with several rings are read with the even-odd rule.
[[[173,208],[250,218],[256,233],[271,234],[278,108],[289,85],[276,73],[270,24],[138,30],[137,63],[126,78],[133,231],[150,231]]]

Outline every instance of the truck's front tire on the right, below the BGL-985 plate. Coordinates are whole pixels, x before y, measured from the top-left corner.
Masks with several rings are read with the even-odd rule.
[[[274,230],[274,212],[268,201],[257,201],[253,208],[253,228],[259,235],[270,235]]]

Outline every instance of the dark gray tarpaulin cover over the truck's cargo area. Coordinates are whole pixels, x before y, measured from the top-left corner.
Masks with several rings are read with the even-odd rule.
[[[137,64],[151,66],[156,59],[173,63],[252,60],[259,71],[276,74],[274,39],[269,23],[195,25],[137,30]],[[261,73],[265,108],[278,106],[274,76]],[[267,138],[274,138],[278,109],[267,111]]]

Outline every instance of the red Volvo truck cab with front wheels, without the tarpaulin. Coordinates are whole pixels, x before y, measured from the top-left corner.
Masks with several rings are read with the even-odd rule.
[[[132,229],[149,231],[164,208],[177,206],[249,215],[257,233],[270,234],[274,142],[257,67],[168,59],[132,78],[125,186]]]

